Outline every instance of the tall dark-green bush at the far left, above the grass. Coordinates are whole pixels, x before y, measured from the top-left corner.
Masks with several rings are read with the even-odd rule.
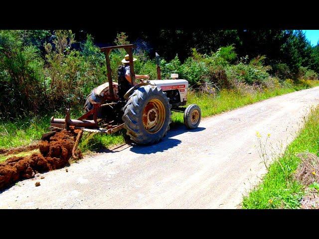
[[[38,49],[24,45],[18,31],[0,31],[0,117],[38,112],[45,104],[43,63]]]

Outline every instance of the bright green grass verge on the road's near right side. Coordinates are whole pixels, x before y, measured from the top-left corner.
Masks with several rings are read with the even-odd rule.
[[[284,155],[269,166],[262,182],[243,198],[242,207],[299,208],[305,188],[293,176],[301,161],[296,154],[305,151],[319,155],[319,107],[311,110],[299,135],[287,147]]]

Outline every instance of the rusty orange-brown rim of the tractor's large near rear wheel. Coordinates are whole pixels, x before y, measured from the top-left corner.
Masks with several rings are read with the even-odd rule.
[[[148,102],[143,110],[143,125],[149,133],[158,132],[164,124],[165,108],[160,100]]]

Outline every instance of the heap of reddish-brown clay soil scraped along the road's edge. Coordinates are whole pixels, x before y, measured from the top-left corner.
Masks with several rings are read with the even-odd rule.
[[[48,140],[40,140],[40,153],[25,157],[11,157],[0,163],[0,189],[20,179],[32,178],[37,172],[62,168],[69,163],[78,129],[56,132]],[[81,151],[76,151],[81,158]]]

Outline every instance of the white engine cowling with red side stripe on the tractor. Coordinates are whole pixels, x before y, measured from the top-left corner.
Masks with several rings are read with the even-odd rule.
[[[162,91],[167,92],[167,97],[172,98],[171,94],[178,94],[178,102],[171,103],[184,103],[187,101],[187,90],[188,90],[188,81],[186,80],[153,80],[150,81],[152,84],[155,84]],[[173,100],[173,99],[171,99]],[[176,99],[177,100],[177,99]],[[178,104],[180,105],[180,104]],[[182,104],[183,105],[183,104]]]

